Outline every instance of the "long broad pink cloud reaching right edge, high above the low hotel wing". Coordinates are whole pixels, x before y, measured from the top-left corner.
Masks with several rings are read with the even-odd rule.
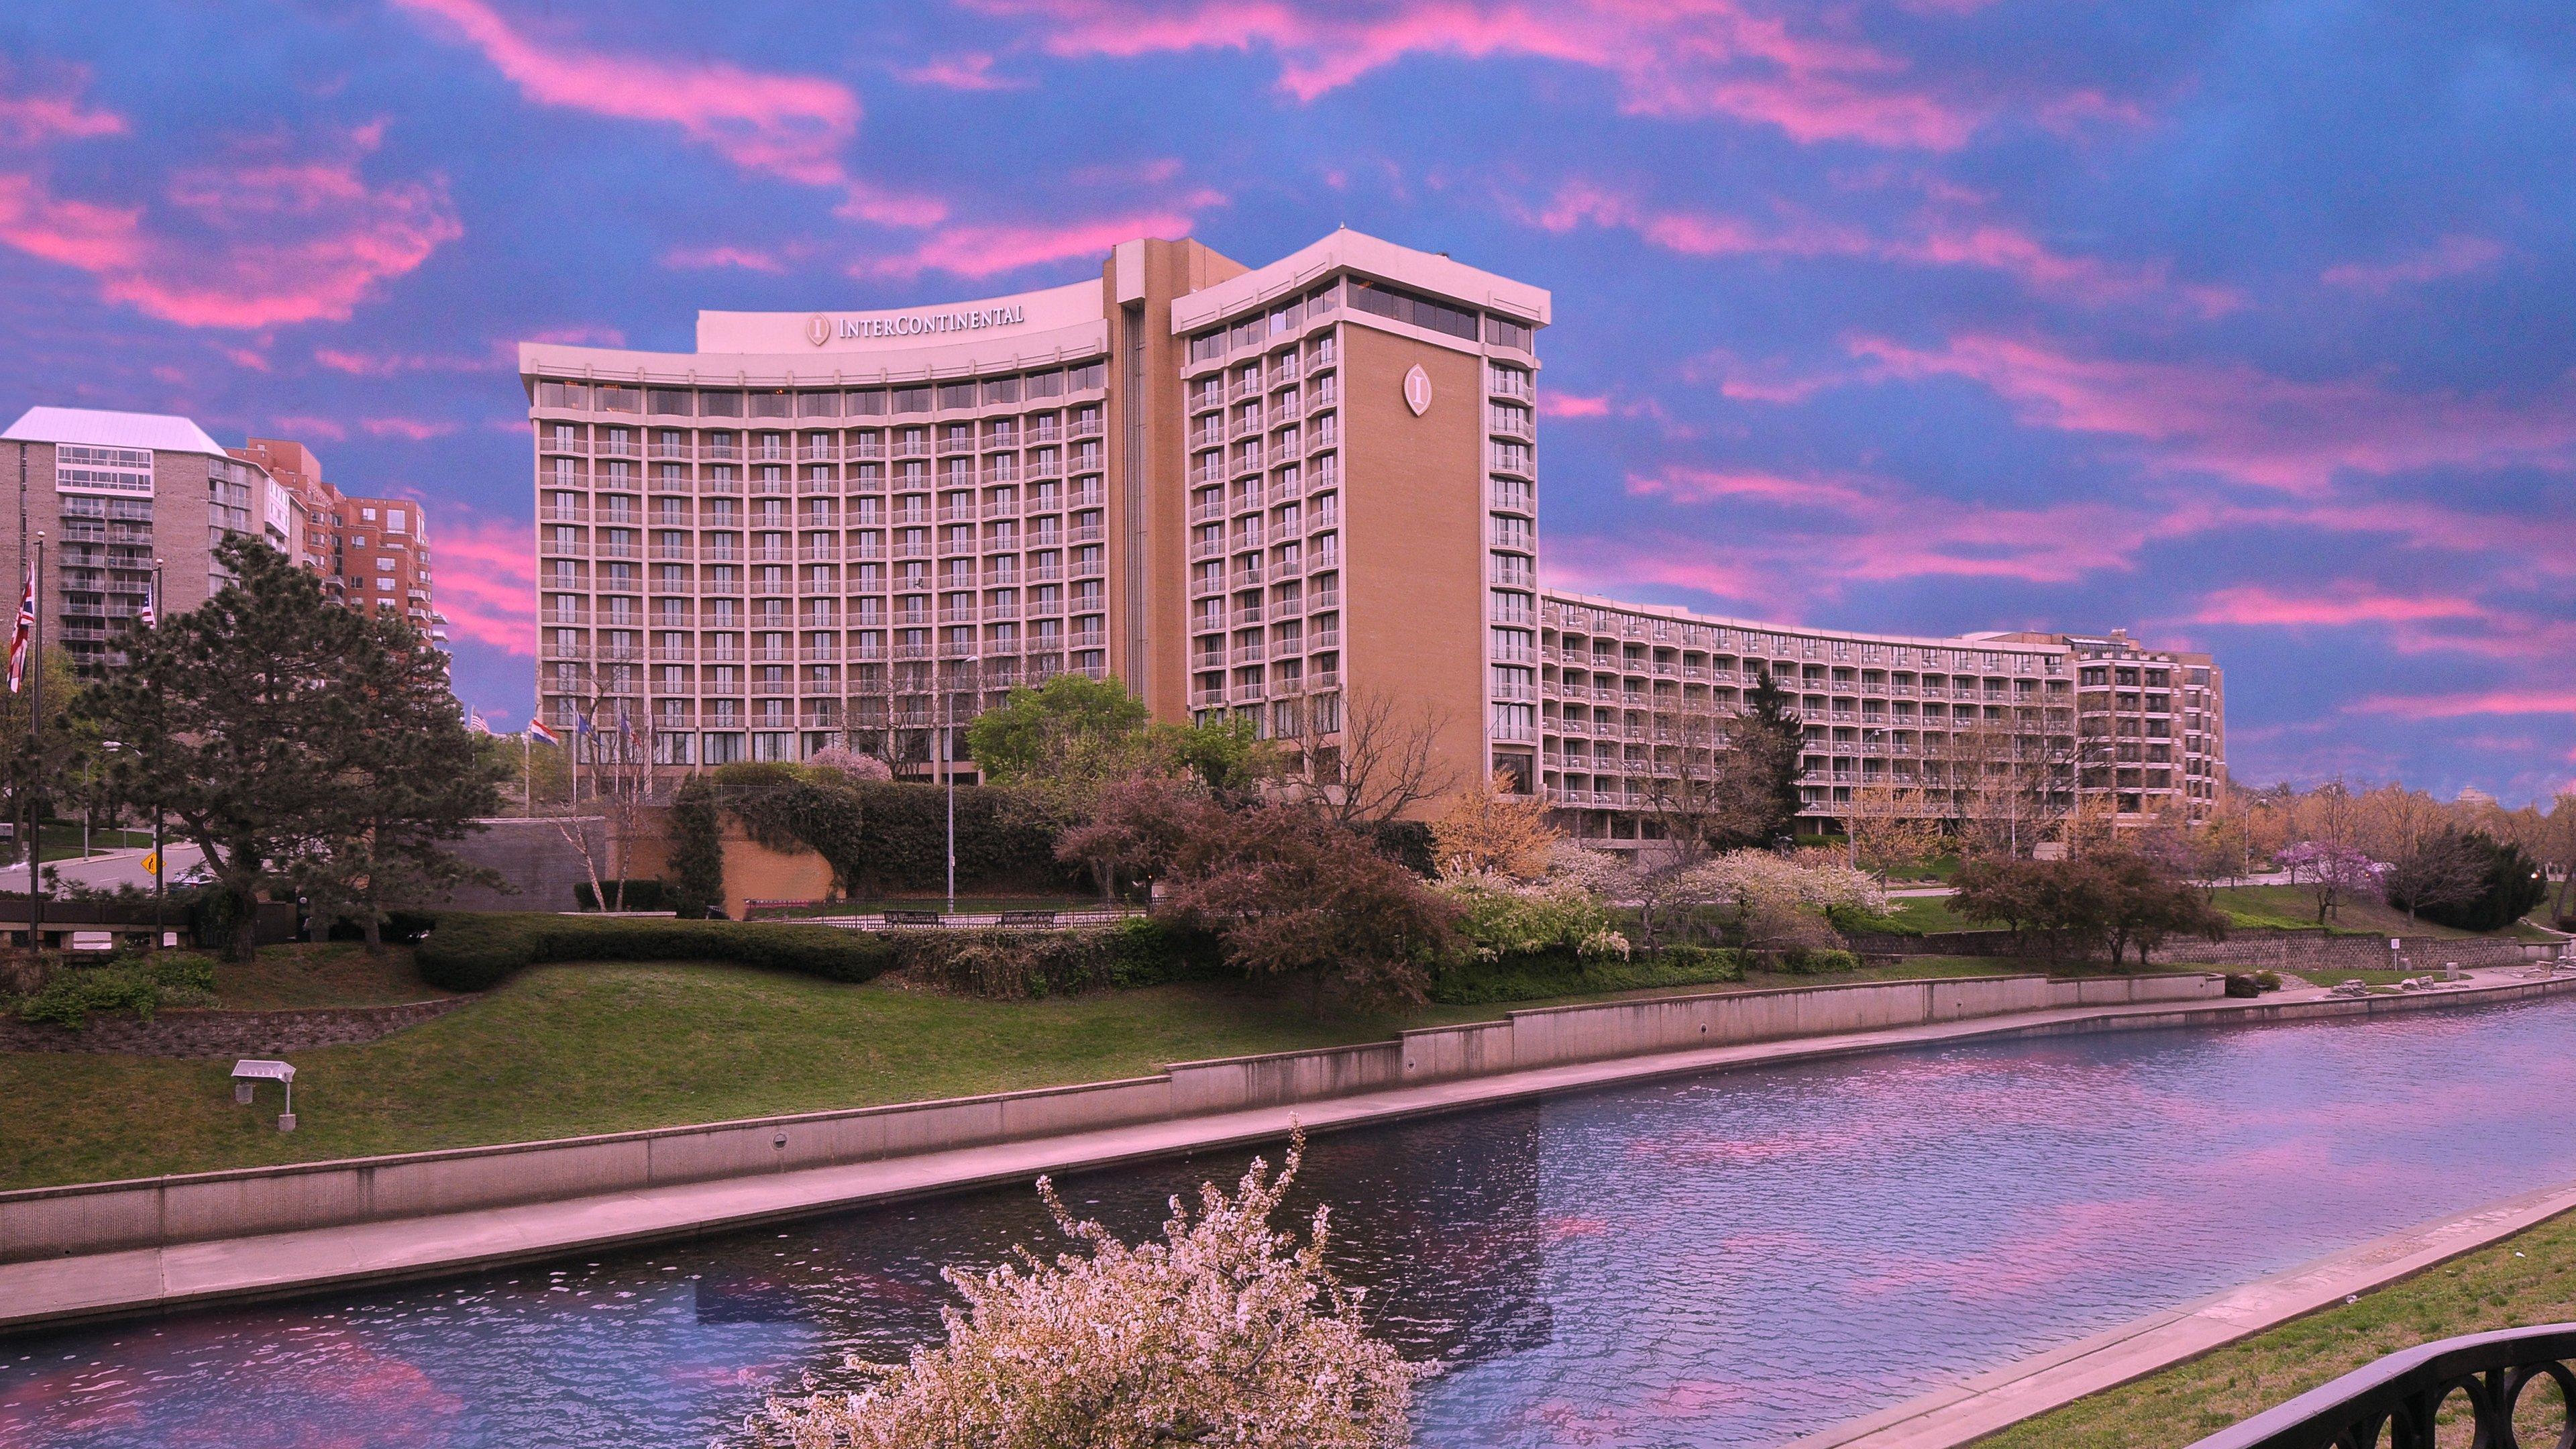
[[[2040,338],[1955,335],[1940,348],[1855,338],[1878,376],[1960,376],[2022,423],[2151,443],[2169,467],[2321,495],[2342,472],[2568,467],[2576,376],[2527,402],[2396,392],[2380,379],[2293,382],[2249,364],[2076,356]]]

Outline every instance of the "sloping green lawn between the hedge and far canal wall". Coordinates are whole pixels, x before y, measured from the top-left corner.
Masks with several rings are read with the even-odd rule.
[[[263,951],[224,967],[224,1006],[420,1000],[397,954]],[[1989,975],[1924,957],[1834,977],[1754,972],[1736,987]],[[337,982],[337,985],[332,985]],[[417,987],[417,990],[415,990]],[[1710,990],[1710,987],[1698,987]],[[1672,990],[1615,993],[1672,995]],[[536,967],[459,1011],[358,1047],[291,1052],[296,1119],[276,1093],[232,1106],[229,1060],[0,1055],[0,1189],[526,1142],[732,1116],[1131,1078],[1164,1062],[1381,1042],[1409,1026],[1492,1021],[1602,998],[1309,1018],[1301,993],[1162,985],[1054,1000],[969,1000],[706,964]]]

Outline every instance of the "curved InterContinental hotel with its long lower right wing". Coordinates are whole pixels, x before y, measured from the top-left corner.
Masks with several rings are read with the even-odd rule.
[[[1659,771],[1762,665],[1808,714],[1824,817],[1927,779],[1960,709],[2074,761],[2074,660],[2099,645],[2141,683],[2102,691],[2079,789],[2200,797],[2182,681],[2208,676],[2215,719],[2205,660],[1540,590],[1548,322],[1535,286],[1342,229],[1260,268],[1133,240],[1095,281],[1015,297],[701,312],[688,353],[523,343],[541,709],[598,712],[670,768],[848,743],[935,776],[979,709],[1077,670],[1327,766],[1355,709],[1394,712],[1453,779],[1507,771],[1636,838]],[[2221,730],[2197,737],[2215,771]]]

